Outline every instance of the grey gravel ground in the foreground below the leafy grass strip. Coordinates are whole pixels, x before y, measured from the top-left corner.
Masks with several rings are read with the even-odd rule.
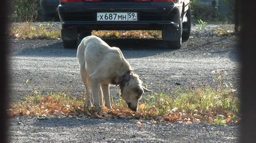
[[[11,142],[239,142],[238,128],[127,120],[12,118]]]

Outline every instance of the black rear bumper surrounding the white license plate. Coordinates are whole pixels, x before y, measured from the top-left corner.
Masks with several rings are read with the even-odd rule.
[[[63,28],[88,30],[162,29],[177,26],[182,5],[170,2],[97,2],[58,6]],[[137,12],[137,21],[97,21],[97,12]]]

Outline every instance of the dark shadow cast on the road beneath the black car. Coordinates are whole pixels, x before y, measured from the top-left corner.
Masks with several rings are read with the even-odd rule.
[[[155,39],[103,39],[110,46],[119,47],[124,57],[139,58],[147,56],[155,56],[160,53],[170,52],[175,49],[168,49],[167,43],[162,40]],[[46,40],[41,40],[45,42]],[[41,46],[27,46],[22,48],[21,51],[15,56],[37,56],[37,57],[76,57],[77,48],[65,49],[60,40],[47,40],[48,44],[41,44]],[[29,42],[33,42],[30,40]],[[38,43],[35,42],[35,45]],[[33,45],[33,43],[30,43]],[[43,45],[43,46],[42,46]],[[132,51],[132,53],[131,53]]]

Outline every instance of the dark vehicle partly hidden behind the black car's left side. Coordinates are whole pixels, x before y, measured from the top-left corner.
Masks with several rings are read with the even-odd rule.
[[[60,0],[40,0],[42,21],[60,21],[57,7]]]

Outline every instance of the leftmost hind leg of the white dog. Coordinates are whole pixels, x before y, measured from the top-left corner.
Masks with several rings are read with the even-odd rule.
[[[80,66],[80,75],[86,87],[86,107],[91,108],[90,80],[84,64]]]

